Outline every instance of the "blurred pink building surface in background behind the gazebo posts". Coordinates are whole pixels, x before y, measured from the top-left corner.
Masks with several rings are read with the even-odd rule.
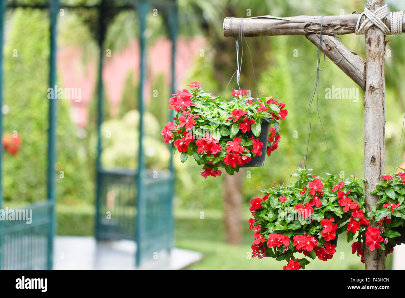
[[[204,38],[187,39],[179,37],[176,45],[175,82],[182,83],[188,75],[194,58],[203,48]],[[58,49],[58,71],[62,88],[81,88],[81,101],[70,99],[70,117],[78,127],[85,127],[89,118],[90,101],[96,92],[98,57],[87,60],[83,64],[83,49],[66,47]],[[139,80],[139,43],[134,39],[120,52],[111,52],[111,57],[104,57],[102,80],[105,95],[109,102],[109,113],[116,116],[122,101],[125,82],[130,72],[133,72],[134,84]],[[147,53],[147,78],[144,85],[144,102],[147,104],[152,94],[151,85],[158,75],[163,74],[165,84],[171,84],[171,41],[160,37],[149,46]],[[178,84],[176,84],[177,86]],[[134,94],[134,100],[136,100]],[[167,94],[167,99],[170,94]]]

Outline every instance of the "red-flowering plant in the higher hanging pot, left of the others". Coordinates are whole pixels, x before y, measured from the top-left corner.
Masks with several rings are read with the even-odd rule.
[[[169,109],[175,109],[173,122],[162,129],[166,144],[179,151],[185,162],[193,156],[203,165],[201,175],[220,176],[220,167],[233,175],[239,167],[247,165],[252,157],[262,155],[262,124],[268,122],[265,133],[265,150],[270,155],[280,141],[278,120],[285,119],[288,111],[285,104],[272,97],[253,99],[246,90],[234,90],[232,101],[213,96],[201,89],[198,82],[191,82],[188,89],[177,91],[169,100]]]

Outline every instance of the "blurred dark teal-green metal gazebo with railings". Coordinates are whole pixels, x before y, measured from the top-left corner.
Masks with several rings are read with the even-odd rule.
[[[50,56],[49,86],[56,85],[56,34],[60,8],[96,9],[98,11],[98,141],[96,160],[96,239],[128,239],[136,242],[136,266],[141,266],[162,250],[173,246],[172,199],[174,185],[173,159],[169,171],[153,176],[145,168],[143,154],[143,94],[146,69],[146,16],[150,9],[158,8],[165,14],[166,26],[172,41],[171,90],[174,93],[175,41],[177,37],[177,4],[175,0],[100,0],[97,5],[64,5],[63,0],[49,0],[38,5],[16,4],[15,1],[0,0],[0,49],[3,49],[4,14],[7,8],[35,7],[49,10]],[[138,169],[105,169],[100,160],[102,141],[100,126],[103,116],[102,65],[104,58],[104,36],[107,29],[106,14],[111,10],[134,9],[139,16],[139,44],[141,50],[139,79],[139,154]],[[0,55],[0,107],[3,90],[3,56]],[[44,96],[46,93],[44,92]],[[173,117],[168,115],[169,120]],[[55,234],[55,169],[56,162],[57,102],[49,99],[49,129],[47,149],[47,200],[22,209],[32,209],[32,224],[19,221],[0,221],[0,269],[2,270],[51,270],[53,267],[53,237]],[[0,113],[0,137],[2,136],[2,114]],[[0,208],[2,206],[0,148]],[[169,148],[169,150],[171,150]],[[107,202],[108,194],[114,192],[113,204]],[[106,214],[111,214],[106,216]]]

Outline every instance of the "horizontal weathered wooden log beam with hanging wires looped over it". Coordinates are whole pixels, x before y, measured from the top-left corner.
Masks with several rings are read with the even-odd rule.
[[[354,33],[359,15],[326,15],[322,21],[322,34],[341,35]],[[274,35],[308,35],[320,33],[320,16],[300,15],[297,17],[261,17],[243,18],[230,17],[224,19],[224,36],[238,36],[240,28],[246,37],[274,36]],[[390,15],[387,15],[385,24],[391,30]],[[364,21],[364,16],[360,24]],[[402,32],[405,32],[405,18],[402,21]]]

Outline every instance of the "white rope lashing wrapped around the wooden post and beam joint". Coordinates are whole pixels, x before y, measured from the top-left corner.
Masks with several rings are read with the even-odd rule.
[[[356,34],[365,34],[367,30],[373,25],[377,26],[384,32],[385,35],[394,35],[394,34],[402,34],[402,18],[403,18],[403,11],[396,11],[394,13],[390,13],[391,16],[391,30],[388,29],[386,24],[382,21],[385,19],[388,14],[388,6],[385,4],[381,6],[374,12],[371,12],[364,7],[364,12],[360,14],[357,19],[356,24]],[[360,20],[363,17],[366,17],[362,24],[360,25]]]

